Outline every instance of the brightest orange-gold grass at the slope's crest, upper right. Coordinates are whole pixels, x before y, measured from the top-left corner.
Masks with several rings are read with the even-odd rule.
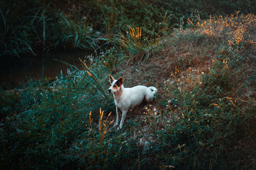
[[[243,50],[248,45],[253,48],[256,46],[255,15],[239,15],[237,12],[236,16],[211,17],[195,25],[202,34],[221,38],[223,43],[228,43],[234,50]]]

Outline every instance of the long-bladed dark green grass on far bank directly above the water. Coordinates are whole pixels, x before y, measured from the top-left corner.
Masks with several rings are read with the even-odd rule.
[[[28,6],[30,8],[28,9]],[[88,16],[64,17],[52,3],[28,1],[3,4],[1,15],[1,55],[17,55],[52,48],[95,49],[99,31],[93,31]],[[77,16],[76,16],[77,17]]]

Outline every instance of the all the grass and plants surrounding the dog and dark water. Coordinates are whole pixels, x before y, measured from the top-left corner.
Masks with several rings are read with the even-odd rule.
[[[178,1],[143,1],[143,6],[140,1],[75,1],[70,13],[54,10],[67,9],[69,1],[59,6],[56,2],[31,1],[35,8],[24,15],[13,14],[17,20],[7,15],[10,9],[31,6],[17,1],[12,8],[7,4],[1,8],[1,29],[5,30],[1,52],[19,55],[34,52],[38,45],[43,50],[56,46],[94,49],[102,42],[106,49],[97,52],[90,67],[81,60],[83,70],[70,65],[67,73],[61,72],[51,83],[38,80],[0,90],[1,167],[256,167],[256,17],[237,12],[202,20],[211,10],[227,12],[223,9],[234,10],[244,1],[230,3],[228,8],[222,8],[227,2],[220,0],[214,1],[216,6],[208,1],[193,1],[193,5],[181,1],[176,6]],[[157,4],[163,8],[156,8]],[[195,6],[204,7],[202,15],[187,19]],[[159,15],[166,8],[177,9],[175,16],[170,11]],[[254,7],[239,8],[246,13]],[[81,9],[91,11],[82,13]],[[186,20],[179,20],[181,16]],[[167,24],[157,25],[164,23],[162,19]],[[56,29],[58,34],[52,31]],[[108,73],[122,76],[125,87],[141,84],[158,89],[154,102],[129,113],[120,131],[113,127],[115,104],[106,93]]]

